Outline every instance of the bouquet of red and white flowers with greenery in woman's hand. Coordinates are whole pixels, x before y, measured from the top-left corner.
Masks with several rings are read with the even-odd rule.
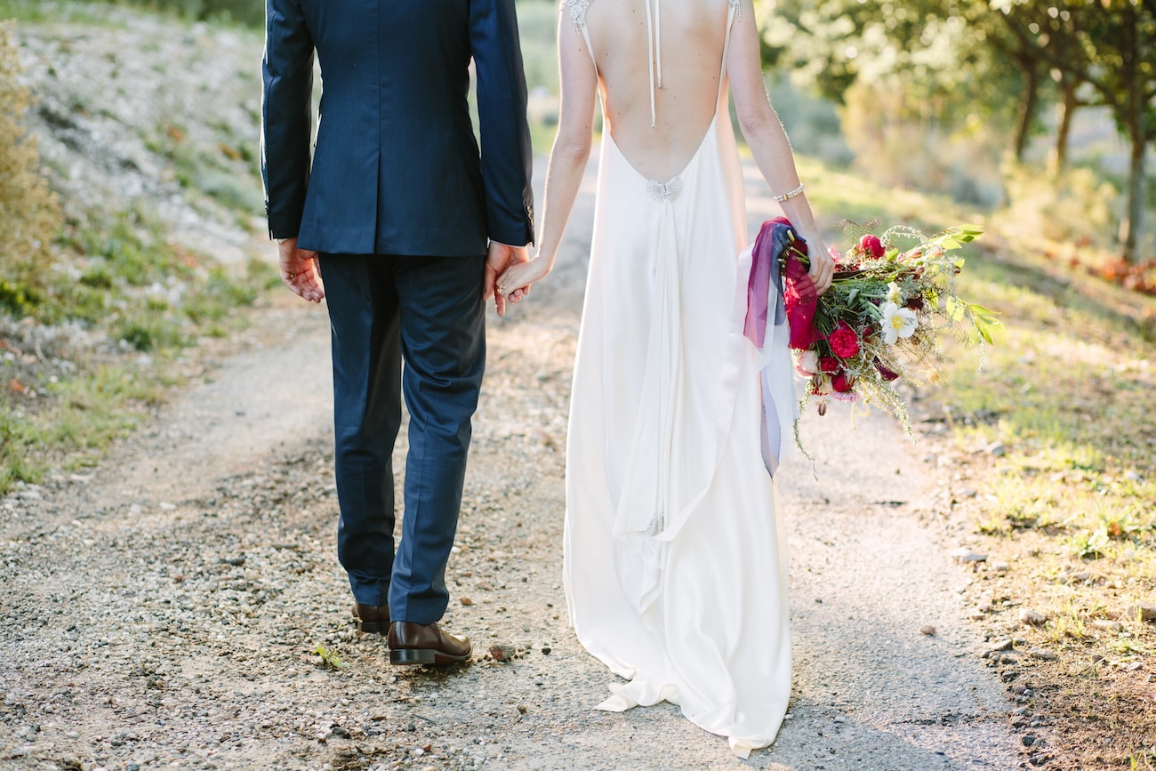
[[[999,324],[991,311],[961,298],[955,287],[964,264],[957,250],[983,230],[957,225],[927,237],[895,225],[876,235],[870,227],[844,223],[854,244],[845,254],[831,250],[835,279],[818,297],[807,275],[807,245],[790,223],[777,227],[784,225],[776,253],[790,347],[795,370],[809,379],[800,407],[818,399],[822,415],[829,396],[861,400],[898,418],[910,435],[907,407],[892,383],[936,381],[943,363],[941,333],[983,344],[992,341]]]

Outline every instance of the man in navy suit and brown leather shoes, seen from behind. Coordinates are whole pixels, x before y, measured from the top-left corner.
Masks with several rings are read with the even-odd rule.
[[[338,556],[354,618],[388,635],[393,663],[464,661],[469,640],[437,622],[484,369],[486,299],[533,240],[514,1],[266,0],[266,18],[269,236],[289,288],[328,297]],[[311,162],[314,51],[324,96]],[[503,313],[501,294],[495,304]],[[409,454],[395,550],[402,394]]]

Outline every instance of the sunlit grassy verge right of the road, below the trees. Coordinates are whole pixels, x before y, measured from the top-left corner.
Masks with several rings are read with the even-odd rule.
[[[949,201],[879,188],[802,160],[821,213],[935,230],[972,221]],[[828,223],[830,224],[830,223]],[[1151,769],[1156,758],[1156,299],[1048,259],[1062,245],[999,228],[973,250],[961,294],[1001,313],[979,354],[947,341],[943,385],[921,394],[953,458],[954,512],[983,539],[983,591],[1007,599],[984,623],[1057,653],[1025,668],[1057,741],[1048,768]],[[1042,613],[1021,625],[1020,609]],[[1023,681],[1015,681],[1023,682]],[[1110,746],[1101,739],[1112,736]]]

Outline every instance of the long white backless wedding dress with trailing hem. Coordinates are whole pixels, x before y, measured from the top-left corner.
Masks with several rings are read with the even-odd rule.
[[[568,3],[593,57],[590,5]],[[727,44],[738,10],[731,0]],[[660,43],[657,21],[647,15]],[[602,138],[564,578],[578,639],[625,679],[601,709],[666,699],[747,757],[778,733],[791,648],[784,533],[761,446],[762,364],[742,334],[750,258],[725,51],[714,118],[675,178],[645,178]],[[779,403],[793,406],[790,378],[777,383],[787,390]]]

